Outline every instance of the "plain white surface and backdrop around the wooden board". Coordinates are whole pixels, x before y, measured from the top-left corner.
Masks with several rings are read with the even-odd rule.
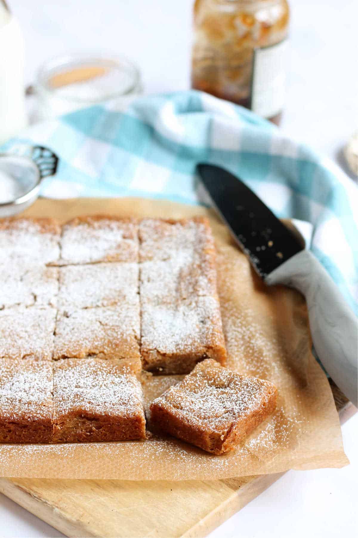
[[[96,49],[141,67],[147,93],[189,86],[192,0],[8,0],[26,40],[26,83],[51,56]],[[356,0],[290,0],[289,84],[282,129],[342,163],[358,128]],[[0,51],[4,54],[4,51]],[[342,428],[350,465],[286,473],[210,538],[356,535],[358,415]],[[330,440],[327,439],[327,443]],[[2,536],[62,536],[0,496]]]

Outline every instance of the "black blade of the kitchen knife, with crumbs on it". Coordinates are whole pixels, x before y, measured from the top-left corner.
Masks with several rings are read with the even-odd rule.
[[[260,277],[303,250],[302,244],[252,190],[224,168],[198,164],[202,185]]]

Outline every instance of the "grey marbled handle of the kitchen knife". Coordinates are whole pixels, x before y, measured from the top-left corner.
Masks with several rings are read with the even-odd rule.
[[[268,274],[265,282],[303,293],[318,357],[357,407],[357,319],[330,275],[311,252],[303,250]]]

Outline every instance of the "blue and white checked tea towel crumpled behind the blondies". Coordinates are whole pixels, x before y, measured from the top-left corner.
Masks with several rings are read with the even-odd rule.
[[[313,226],[311,250],[357,308],[358,190],[332,162],[252,112],[197,91],[96,106],[37,124],[2,150],[42,144],[60,157],[41,194],[145,196],[190,204],[198,161],[228,168],[279,217]]]

